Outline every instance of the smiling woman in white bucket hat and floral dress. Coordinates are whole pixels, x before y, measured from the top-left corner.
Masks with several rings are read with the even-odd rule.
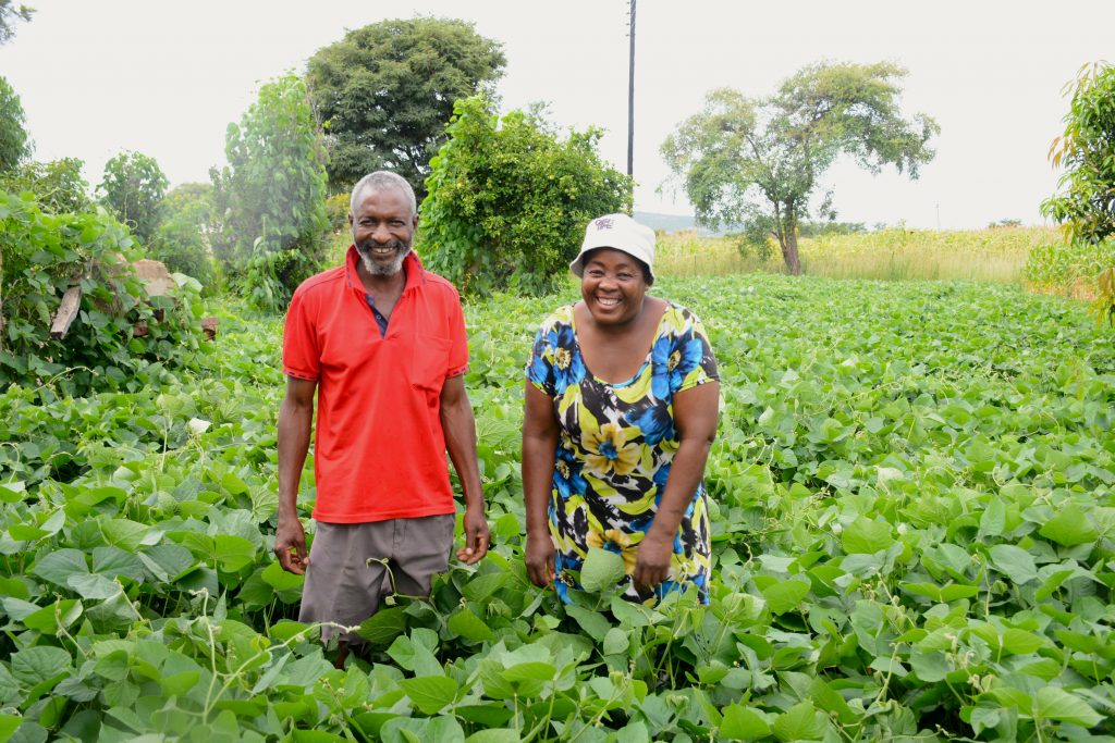
[[[647,295],[653,260],[651,229],[593,219],[570,264],[582,300],[542,323],[526,368],[526,568],[562,600],[592,547],[622,555],[624,598],[707,600],[716,360],[696,315]]]

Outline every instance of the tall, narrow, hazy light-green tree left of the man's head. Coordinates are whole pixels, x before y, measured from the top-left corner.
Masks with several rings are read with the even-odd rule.
[[[306,84],[268,82],[225,139],[229,165],[210,170],[215,257],[252,306],[281,310],[321,266],[329,229],[326,150]]]

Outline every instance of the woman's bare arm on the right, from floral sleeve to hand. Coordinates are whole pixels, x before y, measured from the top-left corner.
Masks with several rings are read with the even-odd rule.
[[[650,530],[639,542],[632,575],[637,588],[657,586],[669,577],[673,537],[705,475],[708,451],[716,438],[719,399],[720,383],[715,381],[673,395],[673,426],[679,446]]]

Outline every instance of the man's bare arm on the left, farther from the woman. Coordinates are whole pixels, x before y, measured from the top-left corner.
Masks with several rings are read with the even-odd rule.
[[[282,568],[297,575],[306,573],[310,564],[306,531],[298,518],[298,486],[310,450],[317,387],[316,381],[288,377],[287,394],[279,407],[279,525],[274,550]]]

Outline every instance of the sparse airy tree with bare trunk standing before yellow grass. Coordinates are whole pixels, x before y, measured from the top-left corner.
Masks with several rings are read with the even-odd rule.
[[[802,272],[797,226],[816,213],[831,217],[832,193],[816,208],[818,179],[844,154],[872,173],[893,165],[917,178],[933,157],[927,145],[940,127],[898,108],[894,65],[813,65],[763,99],[729,88],[711,91],[705,109],[686,119],[662,155],[697,211],[712,227],[747,224],[756,239],[773,234],[791,273]]]

